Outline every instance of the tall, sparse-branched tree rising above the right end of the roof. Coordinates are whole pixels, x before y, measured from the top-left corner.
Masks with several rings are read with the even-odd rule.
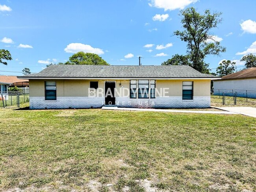
[[[181,23],[184,31],[175,31],[174,35],[182,41],[187,42],[187,55],[191,66],[202,73],[209,73],[209,64],[204,62],[207,55],[219,55],[225,52],[226,48],[220,46],[220,42],[215,40],[211,30],[216,28],[222,21],[221,13],[210,13],[206,9],[203,15],[197,13],[195,8],[189,7],[180,12]]]

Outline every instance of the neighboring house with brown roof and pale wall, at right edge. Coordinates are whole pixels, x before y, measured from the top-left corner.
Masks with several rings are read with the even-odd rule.
[[[223,76],[213,82],[214,94],[237,92],[237,96],[256,98],[256,67]]]

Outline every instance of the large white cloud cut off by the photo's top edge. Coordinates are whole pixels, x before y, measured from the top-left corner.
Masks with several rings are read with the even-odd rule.
[[[150,7],[154,6],[164,9],[165,11],[172,11],[174,9],[184,9],[184,7],[197,1],[198,0],[151,0],[151,4],[148,5]]]

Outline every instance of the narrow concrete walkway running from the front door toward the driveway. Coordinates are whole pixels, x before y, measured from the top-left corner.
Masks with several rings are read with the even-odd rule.
[[[172,109],[141,109],[141,108],[122,108],[103,106],[107,110],[126,110],[126,111],[156,111],[156,112],[173,112],[173,113],[212,113],[212,114],[237,114],[230,111],[192,111],[192,110],[172,110]]]

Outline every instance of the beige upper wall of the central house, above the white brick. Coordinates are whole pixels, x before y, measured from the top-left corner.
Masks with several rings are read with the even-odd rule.
[[[51,81],[47,79],[47,81]],[[56,81],[57,97],[87,97],[89,92],[90,81],[98,81],[98,87],[104,89],[104,82],[108,80],[52,80]],[[125,92],[122,92],[122,88],[130,89],[129,80],[109,80],[116,81],[117,92],[121,94],[119,96],[125,96]],[[160,91],[160,88],[169,88],[166,96],[182,96],[182,81],[194,82],[194,96],[210,96],[210,80],[200,79],[186,79],[186,80],[156,80],[156,89]],[[30,96],[31,97],[43,97],[45,96],[45,80],[30,79]],[[120,86],[121,83],[121,86]],[[127,94],[127,93],[126,93]],[[156,96],[158,96],[156,94]]]

